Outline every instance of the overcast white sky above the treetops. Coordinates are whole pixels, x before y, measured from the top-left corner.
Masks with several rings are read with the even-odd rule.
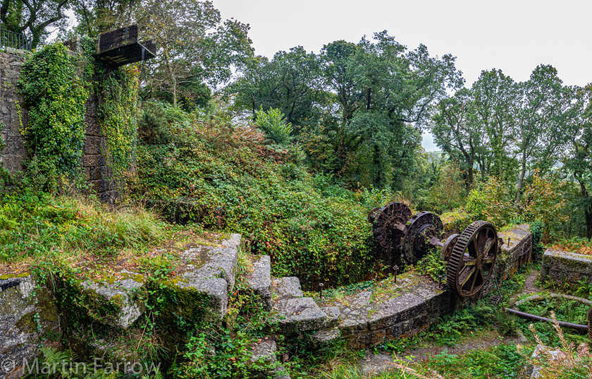
[[[457,56],[467,86],[491,68],[526,80],[538,64],[555,66],[566,85],[592,82],[592,1],[213,1],[223,18],[249,24],[255,53],[270,58],[297,45],[318,53],[328,42],[388,30],[409,49],[423,43],[431,55]],[[422,145],[438,150],[431,136]]]

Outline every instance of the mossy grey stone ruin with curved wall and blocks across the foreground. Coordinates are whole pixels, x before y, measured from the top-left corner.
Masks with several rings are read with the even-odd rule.
[[[498,260],[496,276],[499,280],[511,275],[521,257],[529,260],[532,253],[532,234],[527,225],[520,225],[506,234],[511,236],[509,245],[501,246],[502,259]],[[242,245],[241,236],[232,234],[215,246],[197,246],[183,252],[186,270],[168,280],[178,299],[175,305],[179,313],[191,309],[192,299],[206,299],[206,318],[221,320],[228,307],[228,294],[233,291],[237,275],[238,254]],[[469,299],[453,296],[451,291],[438,287],[438,283],[414,272],[405,272],[377,282],[371,289],[359,291],[340,299],[318,299],[306,296],[297,277],[272,277],[268,255],[252,259],[252,272],[245,277],[253,296],[258,296],[261,305],[271,311],[279,323],[281,335],[307,334],[320,347],[343,338],[347,344],[362,349],[397,339],[412,336],[438,323],[443,315],[464,306]],[[0,277],[0,361],[16,357],[16,362],[33,359],[38,354],[39,336],[48,330],[61,329],[60,312],[47,289],[35,291],[35,280],[30,275]],[[132,291],[145,285],[143,275],[122,271],[110,282],[80,283],[80,293],[92,291],[94,299],[121,302],[115,317],[105,320],[111,327],[125,330],[143,313],[142,304],[135,302]],[[486,296],[491,287],[482,291]],[[201,300],[200,300],[201,299]],[[39,314],[39,323],[30,323],[33,315]],[[75,338],[75,336],[71,336]],[[253,361],[276,361],[276,335],[262,339],[252,347]],[[106,347],[88,346],[94,354],[104,354]],[[108,348],[108,347],[107,347]],[[0,379],[15,378],[22,373],[18,364],[13,373],[0,373]],[[288,378],[278,363],[268,377]]]

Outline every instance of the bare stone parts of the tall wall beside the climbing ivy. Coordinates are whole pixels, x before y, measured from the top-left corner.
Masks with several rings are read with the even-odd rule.
[[[0,151],[0,162],[11,174],[23,169],[23,161],[27,159],[25,140],[19,128],[17,105],[21,105],[23,124],[28,122],[27,110],[23,109],[23,98],[18,95],[16,85],[20,68],[26,59],[26,53],[0,52],[0,122],[4,124],[1,132],[6,147]],[[99,194],[101,200],[111,201],[117,197],[111,179],[112,172],[106,162],[107,140],[99,126],[98,107],[100,100],[92,95],[86,103],[85,144],[82,152],[82,167],[91,191]]]

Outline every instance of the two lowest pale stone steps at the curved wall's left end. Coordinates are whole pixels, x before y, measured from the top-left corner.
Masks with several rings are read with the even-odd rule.
[[[280,334],[320,330],[327,325],[327,315],[310,297],[304,297],[297,277],[272,280],[273,313],[279,321]]]

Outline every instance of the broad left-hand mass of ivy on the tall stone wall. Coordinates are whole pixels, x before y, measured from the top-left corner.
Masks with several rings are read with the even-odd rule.
[[[29,122],[21,124],[20,133],[39,174],[47,179],[80,169],[89,94],[82,72],[80,59],[61,43],[30,55],[20,72],[18,85],[29,110]]]

